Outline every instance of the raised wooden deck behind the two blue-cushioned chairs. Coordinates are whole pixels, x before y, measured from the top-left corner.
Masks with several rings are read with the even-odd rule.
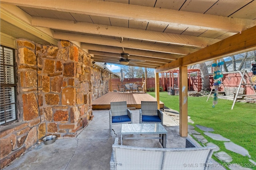
[[[126,101],[127,107],[140,109],[141,101],[156,101],[156,98],[146,93],[108,92],[92,101],[92,109],[110,109],[110,102],[121,101]],[[160,108],[164,108],[163,102],[160,102]]]

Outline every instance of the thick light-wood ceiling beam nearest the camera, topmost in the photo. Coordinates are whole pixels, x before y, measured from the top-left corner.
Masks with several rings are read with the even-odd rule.
[[[11,3],[17,6],[73,12],[92,16],[103,16],[143,22],[146,21],[165,25],[179,24],[187,27],[197,27],[200,29],[211,29],[234,33],[238,33],[256,25],[255,20],[95,0],[73,0],[72,3],[70,3],[70,0],[43,0],[40,1],[40,3],[33,0],[1,0],[1,3]]]

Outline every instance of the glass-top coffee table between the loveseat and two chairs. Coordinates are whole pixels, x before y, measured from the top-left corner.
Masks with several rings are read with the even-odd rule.
[[[126,137],[123,135],[136,135],[136,134],[158,134],[159,137]],[[163,148],[166,148],[166,134],[167,131],[161,123],[139,123],[139,124],[122,124],[121,127],[121,145],[123,139],[159,139]]]

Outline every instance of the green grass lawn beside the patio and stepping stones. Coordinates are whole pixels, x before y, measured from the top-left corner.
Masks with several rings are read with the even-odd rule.
[[[155,97],[155,92],[148,92],[148,94]],[[188,115],[194,121],[194,124],[189,124],[211,127],[214,129],[213,133],[220,134],[247,149],[251,158],[226,150],[223,141],[215,141],[195,127],[195,130],[204,135],[208,142],[218,145],[221,151],[232,156],[233,161],[230,163],[248,165],[251,169],[256,170],[256,166],[248,160],[252,159],[256,162],[256,104],[236,102],[231,110],[232,100],[218,99],[218,104],[212,108],[213,98],[206,102],[207,97],[188,96]],[[179,96],[160,92],[160,101],[164,102],[166,107],[179,111]],[[214,156],[213,158],[220,162]]]

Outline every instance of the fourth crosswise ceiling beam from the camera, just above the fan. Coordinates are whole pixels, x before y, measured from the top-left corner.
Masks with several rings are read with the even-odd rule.
[[[176,60],[178,58],[184,57],[184,55],[176,55],[176,54],[168,54],[168,53],[159,53],[154,51],[145,51],[145,50],[136,50],[136,49],[126,49],[124,51],[120,47],[111,47],[106,45],[96,45],[96,44],[89,44],[89,43],[82,43],[82,49],[88,49],[88,53],[92,51],[104,51],[108,53],[128,53],[130,55],[137,55],[143,57],[153,57],[159,59],[168,59],[168,60]]]

